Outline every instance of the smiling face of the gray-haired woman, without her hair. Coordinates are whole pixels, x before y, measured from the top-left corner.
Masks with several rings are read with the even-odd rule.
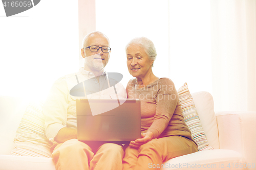
[[[153,60],[150,60],[144,48],[138,44],[131,44],[126,49],[127,68],[136,78],[144,78],[151,71]]]

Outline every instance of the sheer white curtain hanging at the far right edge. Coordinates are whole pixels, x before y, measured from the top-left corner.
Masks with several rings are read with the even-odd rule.
[[[256,1],[211,0],[215,110],[256,111]]]

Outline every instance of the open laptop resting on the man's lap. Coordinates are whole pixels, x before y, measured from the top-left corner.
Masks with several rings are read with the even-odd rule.
[[[118,106],[116,101],[115,99],[76,100],[78,140],[125,144],[141,138],[140,100],[119,99]],[[99,108],[98,110],[106,107],[113,109],[93,115],[92,110],[95,110],[95,107]]]

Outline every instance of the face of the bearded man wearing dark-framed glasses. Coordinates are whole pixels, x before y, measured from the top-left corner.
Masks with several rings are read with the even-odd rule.
[[[92,34],[88,37],[83,47],[92,45],[108,47],[109,41],[104,35]],[[85,59],[84,67],[89,68],[89,71],[101,71],[108,64],[110,53],[103,53],[101,48],[99,48],[98,52],[91,52],[89,48],[86,48],[82,49],[82,57]]]

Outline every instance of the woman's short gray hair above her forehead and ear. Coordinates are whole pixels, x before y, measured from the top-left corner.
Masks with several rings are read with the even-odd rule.
[[[156,60],[156,57],[157,57],[157,51],[156,51],[156,48],[155,48],[155,45],[154,43],[146,38],[146,37],[137,37],[137,38],[134,38],[132,39],[126,46],[125,46],[125,52],[127,53],[127,48],[132,45],[132,44],[138,44],[140,47],[144,48],[145,50],[145,53],[147,54],[147,56],[151,59],[151,60],[154,60],[153,61],[153,64]],[[153,67],[153,64],[152,64],[152,67]]]

